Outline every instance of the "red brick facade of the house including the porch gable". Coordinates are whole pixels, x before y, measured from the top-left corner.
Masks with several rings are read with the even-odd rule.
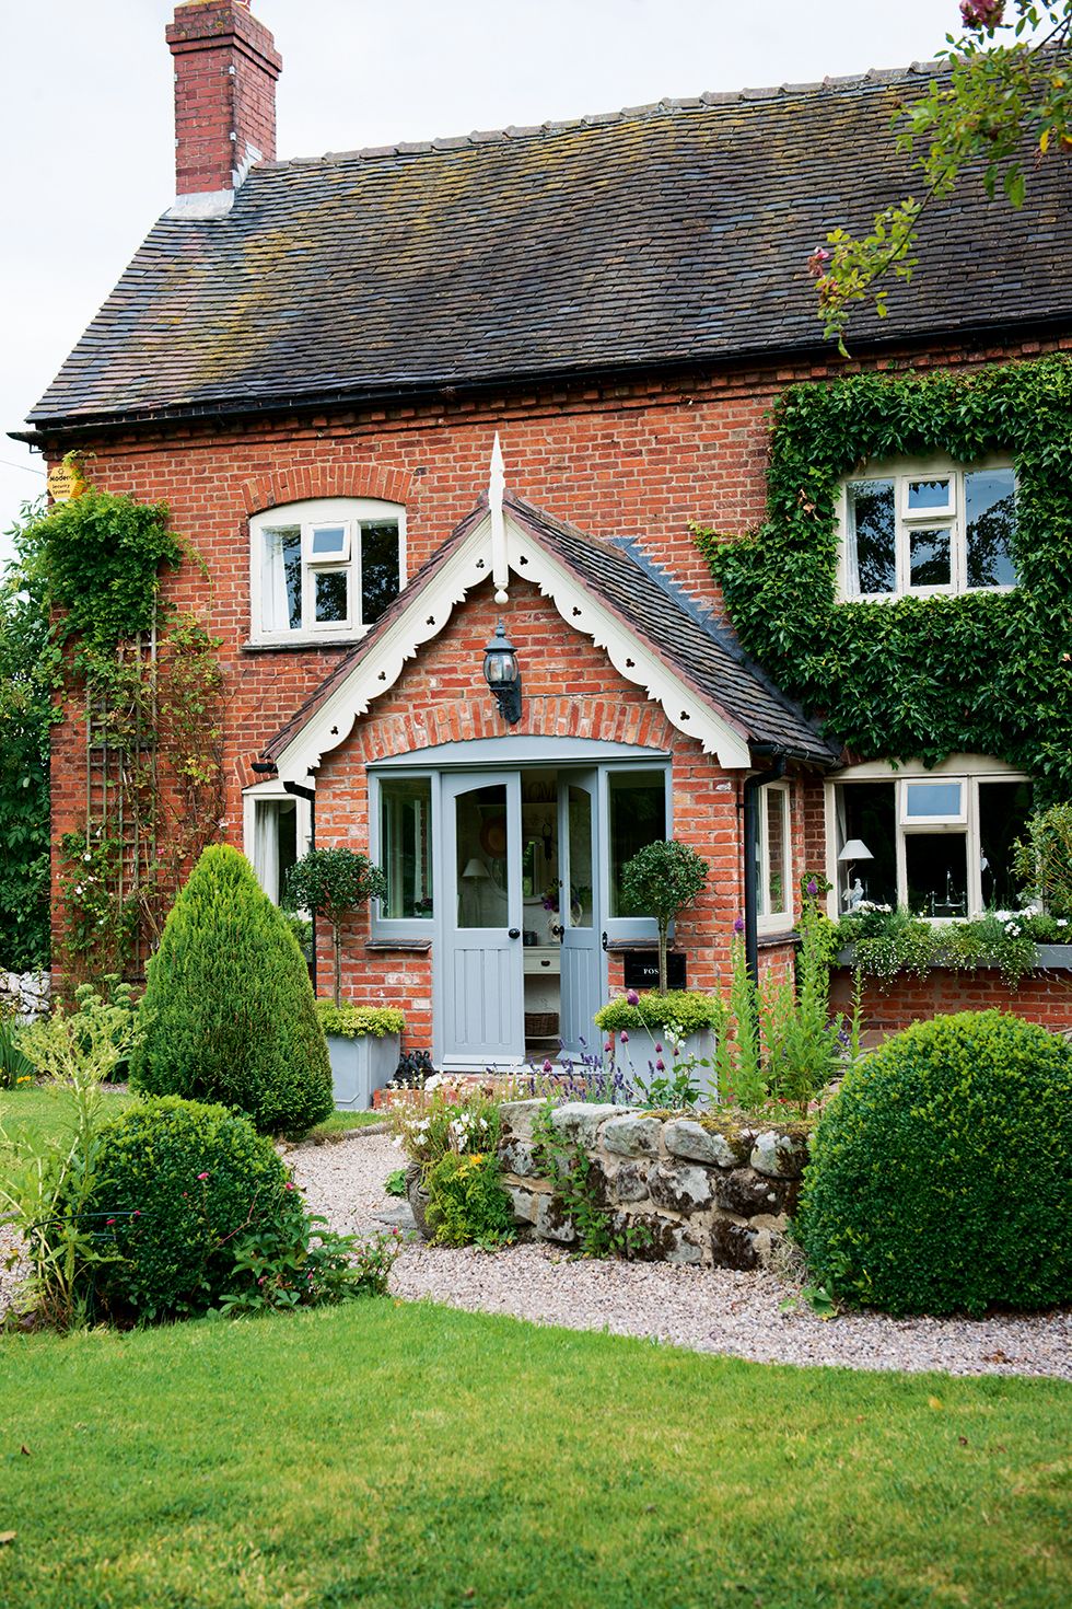
[[[947,349],[918,360],[918,367],[956,364],[969,368],[1009,356],[1014,354],[1001,349]],[[174,528],[191,542],[206,566],[207,576],[203,576],[198,565],[186,563],[167,579],[167,594],[180,607],[196,610],[222,640],[220,660],[228,687],[227,824],[231,840],[241,842],[241,788],[252,780],[251,758],[344,652],[339,647],[254,650],[246,645],[251,629],[251,512],[302,497],[371,496],[405,502],[408,570],[413,573],[473,510],[487,486],[492,439],[498,430],[511,491],[572,520],[595,537],[636,539],[696,597],[717,607],[717,591],[696,552],[691,521],[739,534],[760,520],[765,500],[765,409],[788,383],[824,380],[858,367],[831,359],[804,368],[767,367],[628,385],[577,385],[534,389],[524,396],[490,394],[479,401],[452,397],[392,409],[251,418],[239,425],[143,426],[84,442],[95,452],[88,460],[93,481],[135,497],[167,500]],[[58,459],[68,446],[69,441],[55,442],[48,457]],[[514,600],[521,595],[513,589]],[[392,719],[400,719],[399,698],[411,695],[413,710],[424,698],[428,721],[432,721],[432,727],[426,721],[426,730],[439,732],[437,740],[466,721],[473,721],[474,729],[477,721],[487,721],[490,705],[476,684],[479,655],[474,645],[481,639],[482,647],[490,624],[485,608],[464,611],[439,644],[423,650],[419,668],[415,665],[407,673],[392,702],[373,708],[366,727],[389,734],[392,748],[384,748],[384,753],[399,745],[408,747],[397,735],[397,726],[391,726]],[[569,721],[580,719],[574,711],[587,702],[593,734],[606,735],[612,726],[608,713],[611,702],[614,710],[636,711],[643,706],[641,692],[620,684],[603,656],[567,634],[550,607],[540,605],[537,613],[532,603],[526,613],[519,602],[511,603],[509,629],[516,632],[526,666],[527,721],[538,713],[540,719],[553,724],[564,721],[569,729]],[[471,631],[461,656],[455,653],[452,634],[456,631]],[[455,660],[448,665],[452,655]],[[434,663],[442,666],[444,674],[437,689],[428,684],[428,668]],[[550,676],[550,669],[542,669],[546,666],[558,666],[558,681],[543,685],[540,677]],[[416,679],[413,687],[410,677]],[[569,693],[563,695],[563,687]],[[450,703],[452,713],[445,711],[445,703]],[[606,710],[596,718],[603,703]],[[437,711],[434,719],[432,705]],[[653,735],[659,721],[649,716],[641,742],[661,740]],[[726,803],[733,793],[717,795],[712,803],[710,761],[677,734],[672,747],[675,787],[680,790],[678,829],[683,835],[709,835],[722,864],[730,846],[736,845],[738,819]],[[325,779],[338,764],[339,758],[328,761]],[[71,727],[59,729],[55,737],[53,787],[55,842],[61,832],[77,827],[84,813],[79,737]],[[707,814],[709,804],[714,814]],[[326,829],[328,806],[323,804],[321,811]],[[355,825],[363,837],[360,816]],[[823,864],[818,787],[808,788],[807,808],[794,806],[794,843],[799,851],[794,874]],[[734,872],[733,880],[725,872],[720,875],[717,909],[707,907],[702,920],[723,928],[733,922],[741,906],[738,875]],[[698,928],[689,922],[698,920],[701,917],[686,919],[683,935],[694,938]],[[714,981],[723,938],[720,935],[715,944],[714,932],[704,935],[709,959],[698,962],[698,978],[710,977]],[[781,951],[773,959],[784,964],[784,954]],[[383,988],[407,988],[407,969],[419,973],[419,967],[411,957],[405,962],[395,957],[391,969],[394,981],[387,981],[384,973]]]

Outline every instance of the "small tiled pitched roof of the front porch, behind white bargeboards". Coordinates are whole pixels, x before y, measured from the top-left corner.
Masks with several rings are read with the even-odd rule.
[[[656,573],[638,563],[627,549],[596,542],[572,525],[534,508],[521,497],[506,496],[506,513],[535,542],[558,558],[572,576],[595,592],[636,636],[683,676],[704,702],[741,727],[759,750],[778,748],[788,755],[833,766],[837,751],[784,693],[736,647],[717,621],[678,597],[672,584],[661,584]],[[325,700],[374,650],[383,636],[416,607],[424,589],[450,553],[485,516],[481,504],[452,533],[447,542],[416,573],[370,634],[339,663],[301,710],[265,745],[268,759],[302,730]]]

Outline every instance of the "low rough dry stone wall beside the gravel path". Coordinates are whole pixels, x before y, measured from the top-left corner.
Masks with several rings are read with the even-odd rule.
[[[500,1107],[503,1186],[521,1232],[569,1247],[577,1229],[542,1157],[543,1101]],[[723,1113],[661,1117],[616,1105],[551,1110],[554,1141],[590,1162],[588,1186],[616,1229],[643,1228],[640,1255],[707,1268],[765,1265],[800,1194],[808,1160],[800,1125]]]

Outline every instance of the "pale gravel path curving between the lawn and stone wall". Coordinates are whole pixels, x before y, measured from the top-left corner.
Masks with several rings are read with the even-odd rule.
[[[400,1165],[387,1136],[294,1147],[288,1162],[313,1212],[334,1229],[402,1224],[408,1208],[384,1194]],[[855,1369],[940,1369],[947,1374],[1051,1374],[1072,1381],[1072,1311],[984,1319],[894,1319],[850,1313],[824,1321],[781,1311],[792,1286],[773,1274],[670,1263],[571,1261],[543,1244],[489,1257],[415,1242],[399,1258],[392,1290],[450,1307],[513,1313],[537,1324],[656,1337],[694,1352],[757,1363]]]

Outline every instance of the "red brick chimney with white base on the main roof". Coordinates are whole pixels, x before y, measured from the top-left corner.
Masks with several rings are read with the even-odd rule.
[[[275,159],[283,58],[249,0],[185,0],[167,26],[175,58],[175,208],[227,212],[251,163]]]

